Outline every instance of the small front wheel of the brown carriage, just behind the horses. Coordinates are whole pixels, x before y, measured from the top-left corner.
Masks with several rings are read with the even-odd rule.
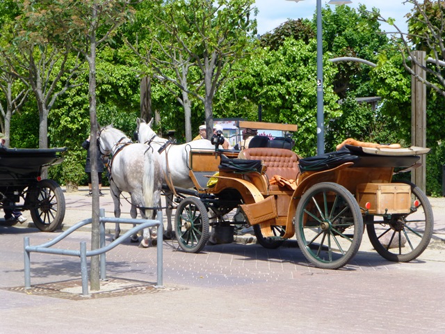
[[[199,198],[181,200],[175,216],[175,231],[179,246],[187,253],[199,253],[209,241],[209,215]]]

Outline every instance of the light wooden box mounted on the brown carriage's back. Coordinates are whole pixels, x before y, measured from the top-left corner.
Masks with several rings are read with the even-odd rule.
[[[371,203],[370,214],[407,214],[411,207],[411,186],[404,183],[362,183],[357,185],[359,206]]]

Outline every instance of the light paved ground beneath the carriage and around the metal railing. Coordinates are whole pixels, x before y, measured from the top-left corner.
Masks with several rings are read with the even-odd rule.
[[[87,193],[65,193],[65,228],[90,217]],[[104,193],[100,206],[113,216]],[[0,333],[444,333],[445,199],[430,202],[432,242],[410,263],[382,259],[366,234],[353,261],[337,271],[312,267],[294,247],[234,243],[188,254],[168,241],[165,288],[153,289],[156,248],[127,242],[107,254],[107,277],[109,285],[133,287],[81,299],[55,294],[81,278],[78,258],[57,255],[31,255],[33,289],[25,293],[23,238],[38,245],[56,234],[0,225]],[[63,247],[89,239],[79,231]]]

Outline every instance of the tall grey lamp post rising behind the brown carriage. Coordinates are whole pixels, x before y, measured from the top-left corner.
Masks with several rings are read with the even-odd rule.
[[[286,0],[303,1],[303,0]],[[352,3],[350,0],[330,0],[330,5]],[[325,116],[323,114],[323,35],[321,31],[321,0],[317,0],[317,154],[325,152]]]

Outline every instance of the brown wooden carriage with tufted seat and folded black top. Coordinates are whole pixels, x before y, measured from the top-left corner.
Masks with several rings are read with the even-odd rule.
[[[296,126],[240,123],[296,131]],[[432,209],[418,186],[393,182],[393,176],[415,168],[419,154],[428,151],[348,146],[305,160],[276,147],[189,150],[195,190],[176,189],[177,240],[184,251],[197,253],[209,241],[210,228],[233,234],[234,226],[244,223],[266,248],[295,234],[309,262],[338,269],[357,253],[366,226],[382,257],[414,260],[432,237]]]

